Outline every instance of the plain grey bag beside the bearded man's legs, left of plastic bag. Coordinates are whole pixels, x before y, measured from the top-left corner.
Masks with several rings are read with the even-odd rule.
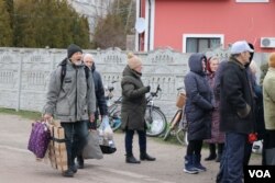
[[[99,147],[98,130],[90,130],[87,137],[87,144],[82,150],[84,159],[102,159],[103,153]]]

